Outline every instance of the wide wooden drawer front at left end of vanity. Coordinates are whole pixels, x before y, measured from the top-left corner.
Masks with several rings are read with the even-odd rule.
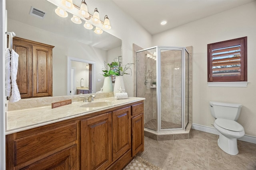
[[[14,140],[14,165],[32,160],[77,139],[77,123]]]

